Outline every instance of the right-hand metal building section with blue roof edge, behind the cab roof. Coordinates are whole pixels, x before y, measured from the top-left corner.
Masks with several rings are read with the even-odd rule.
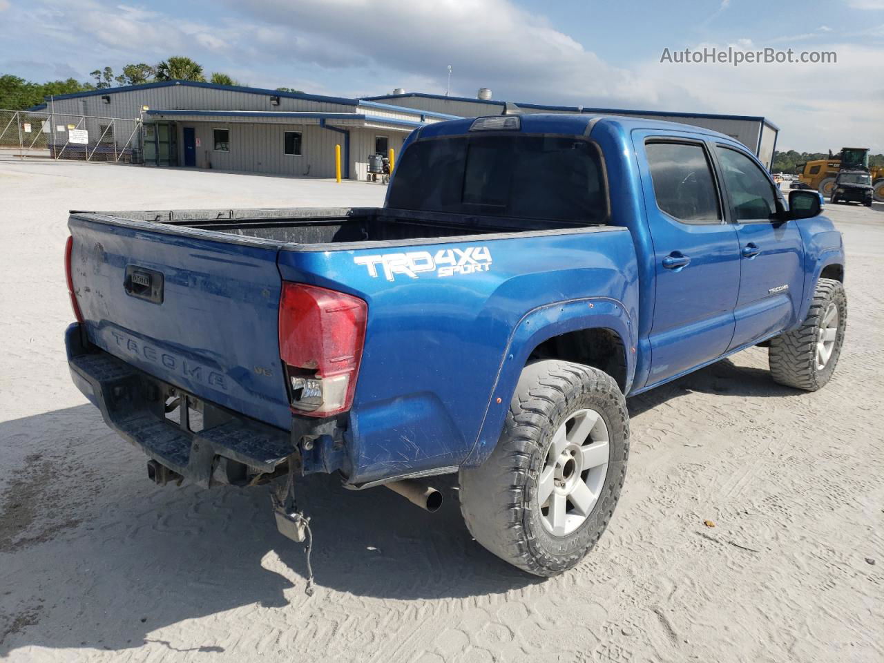
[[[484,88],[483,88],[484,89]],[[487,92],[487,91],[486,91]],[[406,92],[393,95],[367,96],[363,101],[394,103],[424,111],[435,111],[459,115],[463,118],[479,115],[498,115],[503,112],[506,102],[495,99],[470,98],[463,96],[428,95],[421,92]],[[542,103],[515,102],[523,113],[592,113],[594,115],[626,115],[633,118],[661,119],[680,122],[686,125],[702,126],[719,133],[725,133],[751,149],[758,160],[769,169],[773,163],[773,150],[780,128],[769,119],[744,115],[717,115],[713,113],[680,113],[662,110],[627,110],[611,108],[589,108],[584,106],[550,106]]]

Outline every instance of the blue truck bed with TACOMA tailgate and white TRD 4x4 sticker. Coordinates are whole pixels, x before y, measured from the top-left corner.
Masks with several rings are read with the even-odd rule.
[[[276,443],[246,454],[240,429],[268,440],[293,430],[278,337],[284,284],[365,301],[362,378],[347,415],[358,435],[340,465],[360,484],[463,460],[485,408],[453,416],[446,403],[488,402],[519,321],[562,315],[548,309],[550,293],[600,296],[596,312],[610,308],[611,324],[636,307],[635,249],[620,226],[389,208],[74,211],[68,225],[82,352],[125,364],[126,380],[157,395],[142,403],[148,415],[185,398],[214,420],[232,417],[233,442],[200,433],[200,448],[248,455],[253,468],[278,460]],[[451,380],[453,365],[472,377]],[[91,380],[84,392],[96,400],[114,387],[100,372],[75,377]],[[393,401],[406,415],[391,431],[381,414]],[[106,418],[124,437],[179,474],[199,474],[183,455],[139,440],[145,413],[114,403]],[[444,453],[420,451],[443,443]]]

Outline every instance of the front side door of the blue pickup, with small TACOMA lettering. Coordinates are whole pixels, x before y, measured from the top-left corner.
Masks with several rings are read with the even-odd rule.
[[[781,195],[762,166],[735,146],[716,145],[715,155],[740,241],[740,294],[730,343],[735,348],[797,322],[804,249],[797,225],[774,217]]]

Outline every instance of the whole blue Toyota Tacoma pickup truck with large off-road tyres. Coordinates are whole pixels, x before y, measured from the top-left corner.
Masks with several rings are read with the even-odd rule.
[[[159,484],[458,473],[476,540],[532,574],[605,530],[626,397],[746,347],[813,391],[847,318],[842,236],[741,143],[615,116],[423,126],[371,209],[72,211],[74,383]]]

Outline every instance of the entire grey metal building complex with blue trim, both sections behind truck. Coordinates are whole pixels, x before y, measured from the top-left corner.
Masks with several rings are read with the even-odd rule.
[[[398,92],[398,91],[397,91]],[[135,143],[145,164],[263,172],[293,177],[331,178],[335,146],[341,148],[345,179],[366,179],[369,156],[397,154],[415,127],[444,119],[497,115],[506,103],[490,90],[481,98],[423,93],[351,99],[263,88],[170,80],[56,96],[45,108],[60,117],[79,116],[76,125],[48,122],[55,141],[70,128],[86,129],[95,148],[131,136],[113,135],[126,119],[143,122]],[[779,131],[766,118],[706,113],[669,113],[516,103],[525,113],[593,113],[667,119],[726,133],[753,150],[770,167]],[[59,132],[61,132],[59,134]],[[116,140],[121,139],[121,140]],[[53,148],[55,149],[55,148]],[[52,152],[54,153],[54,152]]]

